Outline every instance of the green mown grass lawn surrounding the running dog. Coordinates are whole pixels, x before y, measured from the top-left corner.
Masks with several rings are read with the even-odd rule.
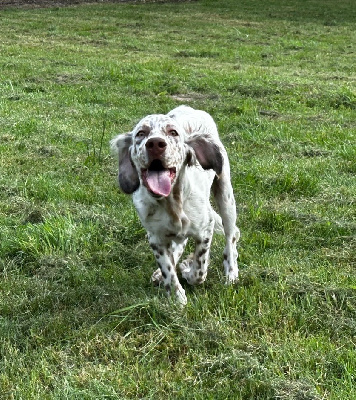
[[[0,11],[0,397],[354,399],[355,9],[201,0]],[[232,164],[240,282],[178,310],[108,141],[179,104]]]

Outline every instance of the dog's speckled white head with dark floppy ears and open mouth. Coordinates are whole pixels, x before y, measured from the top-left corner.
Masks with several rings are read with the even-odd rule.
[[[148,115],[132,132],[111,141],[119,155],[119,185],[133,193],[144,185],[152,196],[167,197],[186,166],[196,161],[219,175],[223,157],[208,135],[187,132],[167,115]]]

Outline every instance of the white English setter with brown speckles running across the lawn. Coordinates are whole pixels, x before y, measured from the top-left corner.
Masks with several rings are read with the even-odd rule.
[[[120,188],[132,194],[157,260],[153,282],[163,284],[169,296],[185,305],[177,263],[188,238],[193,238],[195,252],[178,268],[189,284],[203,283],[214,230],[226,238],[226,280],[236,281],[240,231],[229,160],[212,117],[179,106],[167,115],[148,115],[132,132],[114,138],[111,146],[119,156]],[[210,204],[211,190],[220,215]]]

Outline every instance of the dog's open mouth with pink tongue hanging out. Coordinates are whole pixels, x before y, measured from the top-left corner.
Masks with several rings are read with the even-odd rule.
[[[144,185],[156,196],[169,196],[175,176],[176,169],[164,168],[161,160],[153,160],[147,169],[142,170]]]

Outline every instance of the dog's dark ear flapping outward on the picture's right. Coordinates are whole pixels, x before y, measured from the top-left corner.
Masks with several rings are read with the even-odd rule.
[[[186,143],[194,149],[197,160],[204,169],[213,169],[217,175],[221,174],[224,159],[216,143],[201,134],[193,134]]]

